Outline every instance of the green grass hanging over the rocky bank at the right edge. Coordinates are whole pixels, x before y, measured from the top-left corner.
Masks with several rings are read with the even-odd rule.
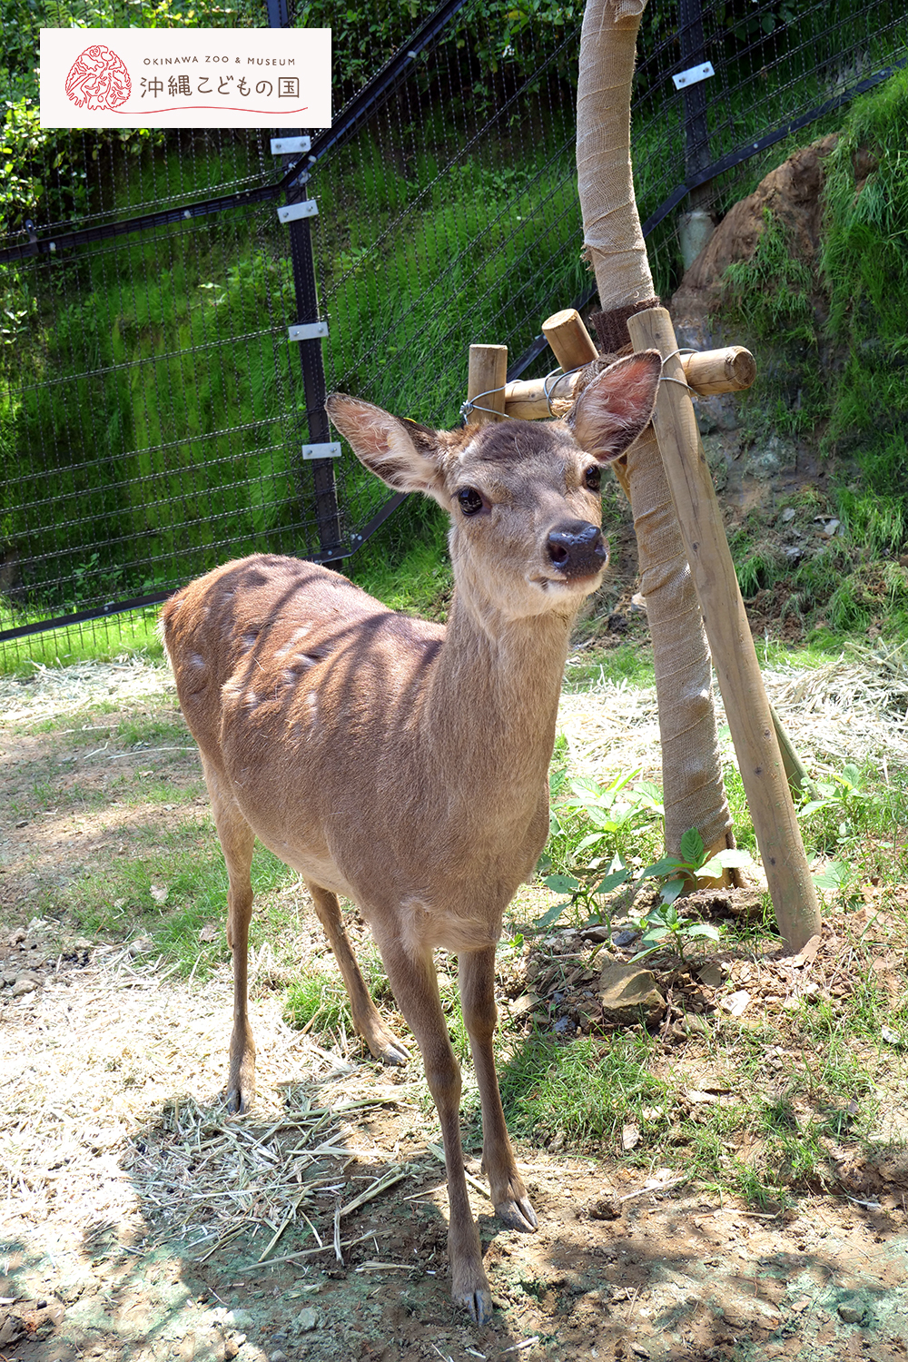
[[[745,597],[776,584],[806,629],[908,627],[908,72],[854,101],[825,159],[822,227],[806,259],[771,215],[753,260],[726,274],[723,326],[750,340],[761,375],[743,399],[753,434],[810,439],[837,460],[834,541],[796,567],[772,535],[732,537]],[[805,518],[810,507],[800,508]],[[879,564],[881,558],[886,558]]]

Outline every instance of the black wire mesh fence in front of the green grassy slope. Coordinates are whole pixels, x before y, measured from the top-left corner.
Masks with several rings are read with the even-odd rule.
[[[325,381],[452,424],[470,342],[542,372],[540,321],[589,296],[581,7],[268,0],[260,19],[332,14],[343,108],[309,151],[272,155],[268,132],[35,139],[1,200],[0,646],[255,549],[351,554],[399,498],[348,451],[306,458],[331,440]],[[692,191],[721,210],[746,162],[753,180],[907,54],[901,0],[656,7],[633,144],[658,289],[679,279]],[[317,217],[279,221],[306,195]],[[319,323],[325,339],[291,339]]]

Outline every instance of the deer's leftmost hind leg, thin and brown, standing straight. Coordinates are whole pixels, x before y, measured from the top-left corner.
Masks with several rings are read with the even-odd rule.
[[[227,945],[233,953],[233,1034],[227,1109],[245,1111],[256,1090],[256,1046],[248,1011],[249,922],[252,919],[252,849],[255,834],[237,801],[210,761],[201,759],[211,812],[227,865]]]

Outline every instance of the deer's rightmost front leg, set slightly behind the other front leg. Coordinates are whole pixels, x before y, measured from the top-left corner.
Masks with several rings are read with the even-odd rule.
[[[496,948],[464,952],[459,956],[457,971],[463,1020],[482,1102],[482,1166],[489,1178],[496,1215],[512,1230],[535,1230],[539,1220],[517,1173],[491,1053],[497,1020]]]

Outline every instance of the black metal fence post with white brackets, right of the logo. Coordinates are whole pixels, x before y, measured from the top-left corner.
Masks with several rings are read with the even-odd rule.
[[[271,29],[287,27],[287,0],[267,0],[268,26]],[[282,138],[299,136],[297,129],[282,129]],[[293,157],[283,157],[287,165]],[[287,185],[287,204],[302,203],[309,197],[306,189],[308,172],[301,174]],[[316,285],[316,262],[312,251],[312,227],[309,218],[294,218],[287,223],[290,233],[290,263],[293,267],[293,283],[297,296],[295,324],[305,324],[319,320],[319,290]],[[312,338],[294,342],[299,346],[299,365],[302,368],[302,388],[306,399],[306,426],[309,444],[329,444],[331,426],[325,411],[325,366],[321,353],[321,339]],[[336,554],[340,552],[340,513],[338,508],[338,489],[335,486],[335,471],[332,459],[312,460],[312,479],[316,497],[316,524],[319,527],[319,546],[323,563],[327,567],[338,567]]]

